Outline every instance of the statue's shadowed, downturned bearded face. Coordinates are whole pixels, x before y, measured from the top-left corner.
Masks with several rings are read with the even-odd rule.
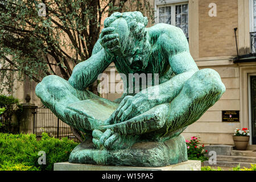
[[[147,42],[146,37],[143,34],[136,37],[132,34],[121,36],[121,51],[123,57],[125,57],[127,63],[143,65],[141,69],[144,69],[148,65],[148,57],[151,54],[150,43]]]

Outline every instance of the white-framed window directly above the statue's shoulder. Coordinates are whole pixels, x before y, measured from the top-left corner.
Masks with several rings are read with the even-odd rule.
[[[180,27],[188,38],[188,3],[169,5],[157,3],[156,8],[156,22]]]

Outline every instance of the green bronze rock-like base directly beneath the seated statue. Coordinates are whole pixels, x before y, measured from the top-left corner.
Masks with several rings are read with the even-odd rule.
[[[183,136],[165,142],[137,142],[126,150],[97,150],[91,140],[79,144],[69,156],[70,163],[162,167],[188,160]]]

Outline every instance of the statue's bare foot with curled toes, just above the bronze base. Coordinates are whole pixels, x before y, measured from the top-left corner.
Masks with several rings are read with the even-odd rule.
[[[167,121],[168,115],[164,113],[168,113],[168,110],[169,105],[162,104],[128,121],[99,126],[92,133],[93,143],[97,148],[105,146],[106,148],[112,147],[115,149],[122,148],[123,143],[133,144],[135,138],[139,135],[161,129]],[[133,137],[130,138],[129,135],[133,135]]]

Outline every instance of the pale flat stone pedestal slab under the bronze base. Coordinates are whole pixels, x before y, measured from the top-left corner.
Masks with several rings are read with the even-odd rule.
[[[201,171],[201,162],[188,160],[165,167],[96,166],[63,162],[55,163],[54,171]]]

